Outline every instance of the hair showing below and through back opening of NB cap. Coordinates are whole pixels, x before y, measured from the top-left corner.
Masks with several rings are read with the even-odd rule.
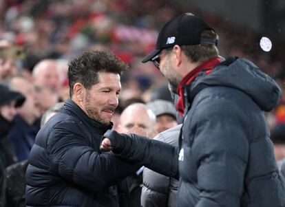
[[[205,39],[219,39],[218,34],[213,30],[204,30],[202,31],[201,38]],[[190,59],[191,62],[204,62],[210,58],[219,55],[217,46],[209,44],[200,44],[200,45],[182,45],[182,50],[186,56]]]

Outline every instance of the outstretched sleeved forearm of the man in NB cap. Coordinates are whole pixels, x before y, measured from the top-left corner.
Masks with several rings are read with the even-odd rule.
[[[107,131],[104,135],[114,146],[113,152],[127,160],[134,160],[153,171],[178,178],[178,148],[136,134]]]

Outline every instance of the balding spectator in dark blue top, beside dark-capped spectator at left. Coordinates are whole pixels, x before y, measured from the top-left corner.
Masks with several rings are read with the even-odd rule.
[[[16,76],[10,80],[10,85],[15,91],[25,96],[24,104],[19,107],[18,115],[14,119],[14,126],[9,136],[14,143],[19,161],[29,157],[34,138],[39,131],[39,122],[36,122],[41,113],[36,102],[34,85],[23,77]]]

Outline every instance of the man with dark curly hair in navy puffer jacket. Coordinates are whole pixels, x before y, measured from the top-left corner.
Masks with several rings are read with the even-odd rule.
[[[27,206],[127,206],[120,181],[139,166],[100,151],[127,69],[109,51],[84,52],[70,62],[70,99],[39,131],[30,153]]]

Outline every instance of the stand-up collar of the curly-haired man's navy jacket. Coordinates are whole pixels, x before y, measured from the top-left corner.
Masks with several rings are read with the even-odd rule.
[[[76,103],[71,100],[67,99],[64,105],[64,109],[72,113],[73,116],[76,116],[79,120],[83,120],[84,122],[87,122],[91,127],[95,127],[96,129],[99,129],[100,131],[107,131],[108,129],[112,129],[113,123],[110,122],[109,124],[103,124],[101,122],[98,122],[92,118],[89,118],[87,114],[79,107],[76,105]]]

